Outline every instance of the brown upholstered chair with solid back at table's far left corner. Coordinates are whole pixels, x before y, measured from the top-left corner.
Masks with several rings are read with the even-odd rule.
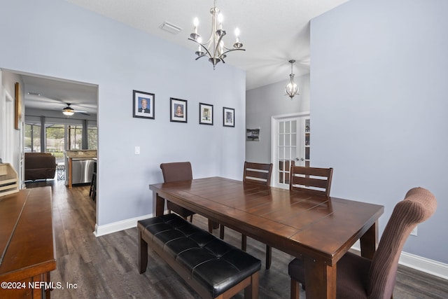
[[[162,169],[163,181],[165,183],[172,181],[189,181],[193,179],[193,171],[191,170],[190,162],[162,163],[160,164],[160,169]],[[193,214],[195,214],[195,212],[168,200],[167,208],[170,212],[174,211],[174,213],[179,214],[179,216],[185,219],[190,217],[190,222],[193,221]]]

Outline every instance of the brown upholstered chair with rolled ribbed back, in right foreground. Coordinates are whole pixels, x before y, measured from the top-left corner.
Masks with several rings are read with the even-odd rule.
[[[418,223],[432,216],[437,201],[430,191],[412,188],[398,202],[384,229],[378,249],[369,260],[347,252],[337,262],[337,298],[388,299],[393,295],[398,258],[407,237]],[[303,260],[294,259],[288,266],[291,298],[299,298],[299,283],[304,284]]]

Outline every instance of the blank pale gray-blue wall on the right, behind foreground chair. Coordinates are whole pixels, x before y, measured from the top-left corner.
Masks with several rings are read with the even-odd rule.
[[[385,206],[438,200],[407,253],[448,263],[448,2],[351,0],[311,20],[313,160],[332,195]]]

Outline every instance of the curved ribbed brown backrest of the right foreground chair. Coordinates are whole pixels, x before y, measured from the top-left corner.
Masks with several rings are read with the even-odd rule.
[[[434,214],[436,207],[434,195],[424,188],[412,188],[395,205],[372,259],[368,298],[391,298],[406,239],[418,223]]]

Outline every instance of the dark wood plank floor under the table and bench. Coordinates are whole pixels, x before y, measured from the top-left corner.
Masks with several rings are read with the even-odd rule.
[[[52,186],[57,270],[51,281],[62,286],[52,291],[52,298],[200,298],[151,249],[148,270],[139,274],[137,228],[93,235],[96,212],[89,186],[68,189],[56,180],[27,183],[27,188],[38,186]],[[207,229],[202,216],[195,215],[193,223]],[[225,229],[225,241],[239,246],[240,238]],[[260,298],[289,298],[288,263],[293,258],[273,249],[271,269],[265,270],[265,246],[248,238],[247,251],[263,261]],[[393,298],[448,298],[448,281],[400,266]]]

